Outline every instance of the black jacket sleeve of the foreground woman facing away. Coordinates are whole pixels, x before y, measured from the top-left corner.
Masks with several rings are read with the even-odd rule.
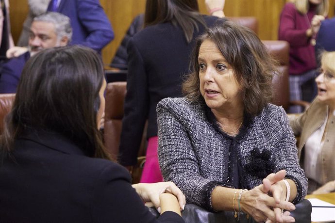
[[[101,172],[99,179],[91,203],[92,219],[95,222],[184,222],[181,216],[171,211],[156,219],[131,186],[130,176],[123,167],[108,165]]]

